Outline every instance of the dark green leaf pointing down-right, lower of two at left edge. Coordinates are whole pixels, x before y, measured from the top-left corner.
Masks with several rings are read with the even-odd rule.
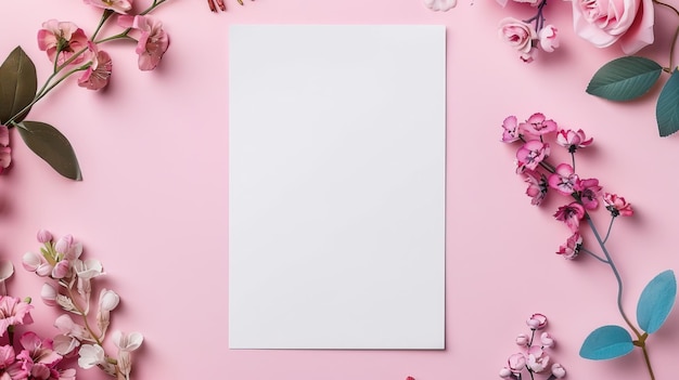
[[[24,121],[16,127],[30,150],[46,160],[56,172],[71,180],[82,180],[76,154],[66,136],[56,128],[39,121]]]

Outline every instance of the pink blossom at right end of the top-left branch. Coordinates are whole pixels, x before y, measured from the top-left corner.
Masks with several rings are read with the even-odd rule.
[[[154,69],[169,47],[169,36],[163,30],[163,23],[149,15],[118,16],[118,25],[139,31],[137,54],[139,69]]]

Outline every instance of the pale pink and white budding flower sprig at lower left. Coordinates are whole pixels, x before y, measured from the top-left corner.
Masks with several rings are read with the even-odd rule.
[[[78,356],[81,368],[99,367],[111,376],[128,380],[131,352],[139,349],[143,337],[139,332],[127,335],[114,331],[112,339],[117,354],[105,352],[103,342],[111,325],[111,313],[118,306],[120,298],[113,290],[100,289],[97,313],[92,318],[92,283],[104,275],[101,262],[81,259],[82,245],[71,235],[54,241],[52,234],[42,230],[38,232],[38,241],[43,244],[40,253],[25,253],[23,266],[47,279],[40,291],[42,301],[67,312],[54,322],[54,327],[60,331],[53,339],[54,352],[65,357]],[[72,315],[79,317],[80,322],[74,320]],[[91,319],[94,319],[94,324]],[[92,326],[97,326],[97,329]]]

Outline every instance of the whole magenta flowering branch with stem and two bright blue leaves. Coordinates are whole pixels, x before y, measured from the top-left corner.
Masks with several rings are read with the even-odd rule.
[[[579,148],[589,146],[592,139],[587,139],[582,130],[561,129],[555,121],[547,119],[540,113],[534,114],[524,122],[518,122],[515,116],[510,116],[504,119],[502,128],[503,142],[521,142],[522,144],[516,150],[516,173],[523,175],[525,182],[528,183],[526,194],[531,198],[531,204],[540,205],[549,191],[573,199],[567,205],[559,207],[553,214],[558,221],[564,222],[572,233],[556,253],[566,259],[575,259],[579,252],[586,252],[599,262],[608,265],[615,276],[617,309],[636,339],[632,340],[629,333],[620,327],[605,326],[590,333],[582,344],[580,355],[591,359],[607,359],[626,355],[632,351],[633,346],[638,346],[642,350],[651,379],[655,379],[648,353],[646,338],[649,333],[655,332],[662,326],[671,310],[677,291],[676,279],[674,273],[667,271],[656,276],[646,286],[637,307],[640,327],[635,326],[623,307],[623,278],[606,248],[613,222],[618,217],[633,215],[633,210],[625,198],[603,192],[598,179],[581,179],[576,173],[575,153]],[[566,148],[571,155],[571,163],[554,165],[549,161],[551,146],[546,139],[552,134],[556,134],[556,143]],[[590,215],[598,209],[600,201],[605,204],[605,209],[611,214],[608,230],[603,238]],[[580,235],[581,220],[587,221],[603,257],[584,247]]]

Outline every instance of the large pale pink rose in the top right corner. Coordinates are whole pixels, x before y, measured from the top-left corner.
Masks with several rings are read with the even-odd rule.
[[[653,0],[573,0],[575,32],[598,48],[619,40],[625,54],[653,43]]]

